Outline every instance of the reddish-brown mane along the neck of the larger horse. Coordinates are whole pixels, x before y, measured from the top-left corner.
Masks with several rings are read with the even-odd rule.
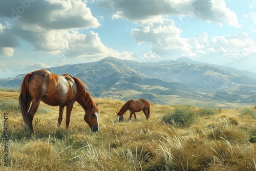
[[[65,74],[65,75],[69,75],[69,74]],[[85,86],[88,89],[87,85],[85,83],[83,83],[79,78],[73,77],[71,75],[69,75],[69,76],[71,78],[73,78],[77,84],[77,99],[84,99],[87,105],[93,104],[97,113],[99,113],[99,108],[94,103],[91,94],[88,91],[86,91],[86,89],[84,88],[84,86]]]

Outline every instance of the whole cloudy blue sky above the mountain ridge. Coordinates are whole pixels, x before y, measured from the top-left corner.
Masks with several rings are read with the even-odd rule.
[[[256,0],[0,0],[0,78],[181,56],[256,72]]]

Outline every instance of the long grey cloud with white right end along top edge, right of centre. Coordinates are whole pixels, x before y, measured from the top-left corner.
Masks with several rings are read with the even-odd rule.
[[[200,20],[221,25],[239,27],[237,15],[226,7],[224,0],[146,0],[109,1],[99,0],[100,6],[115,10],[112,18],[124,18],[133,22],[146,23],[168,16],[193,14]]]

